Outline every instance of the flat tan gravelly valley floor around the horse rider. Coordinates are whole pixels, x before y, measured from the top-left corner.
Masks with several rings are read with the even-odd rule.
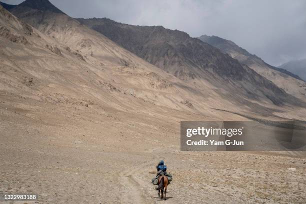
[[[159,203],[150,179],[162,158],[173,175],[165,203],[305,200],[306,159],[298,153],[184,152],[177,120],[148,122],[140,112],[126,117],[94,105],[7,103],[0,193],[36,193],[39,203]]]

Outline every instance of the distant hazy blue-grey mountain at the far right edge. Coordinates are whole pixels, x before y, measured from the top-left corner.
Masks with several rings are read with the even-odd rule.
[[[292,60],[278,66],[299,75],[306,81],[306,59]]]

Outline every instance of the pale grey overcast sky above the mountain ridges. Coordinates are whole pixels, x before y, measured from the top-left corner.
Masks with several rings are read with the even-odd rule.
[[[0,0],[18,4],[23,0]],[[306,0],[50,0],[72,17],[163,25],[234,41],[271,65],[306,58]]]

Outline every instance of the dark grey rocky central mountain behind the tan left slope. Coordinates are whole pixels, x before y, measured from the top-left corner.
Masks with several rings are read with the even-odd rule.
[[[287,97],[285,92],[273,83],[185,32],[162,26],[128,25],[107,18],[77,20],[178,78],[209,83],[228,92],[243,89],[240,94],[255,98],[259,94],[275,104],[287,100],[283,98]]]

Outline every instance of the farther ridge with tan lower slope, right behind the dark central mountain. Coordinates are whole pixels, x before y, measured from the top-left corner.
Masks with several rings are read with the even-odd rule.
[[[298,75],[293,74],[283,68],[271,66],[254,54],[250,54],[245,49],[239,47],[234,42],[223,39],[218,36],[201,35],[198,37],[203,42],[211,44],[222,52],[246,64],[257,73],[271,80],[278,87],[284,89],[287,93],[305,100],[306,83]]]

